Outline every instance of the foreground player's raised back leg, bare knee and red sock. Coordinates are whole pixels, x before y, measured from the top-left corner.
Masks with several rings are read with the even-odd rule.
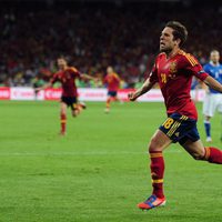
[[[182,147],[195,159],[204,160],[210,163],[222,164],[222,151],[218,148],[208,147],[204,148],[201,140],[192,142],[188,140]]]

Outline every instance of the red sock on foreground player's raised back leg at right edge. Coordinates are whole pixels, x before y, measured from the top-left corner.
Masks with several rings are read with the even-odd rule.
[[[205,148],[204,160],[210,163],[222,164],[222,151],[216,148]]]

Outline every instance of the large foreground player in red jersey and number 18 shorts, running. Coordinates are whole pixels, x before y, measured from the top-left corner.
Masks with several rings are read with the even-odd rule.
[[[222,84],[205,73],[193,56],[181,50],[186,36],[186,28],[180,22],[168,22],[160,37],[160,54],[150,77],[141,89],[129,93],[129,99],[134,101],[159,83],[168,113],[167,120],[149,143],[153,192],[148,200],[138,204],[143,210],[165,204],[162,152],[171,143],[179,142],[195,160],[222,164],[222,151],[212,147],[204,148],[200,140],[196,129],[198,112],[190,97],[193,75],[219,92],[222,92]]]

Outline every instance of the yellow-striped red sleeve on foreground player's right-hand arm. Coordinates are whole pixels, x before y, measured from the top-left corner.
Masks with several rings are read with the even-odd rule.
[[[204,81],[209,74],[204,71],[202,65],[199,63],[199,61],[191,54],[186,54],[185,57],[185,70],[189,71],[192,75],[196,77],[201,81]]]

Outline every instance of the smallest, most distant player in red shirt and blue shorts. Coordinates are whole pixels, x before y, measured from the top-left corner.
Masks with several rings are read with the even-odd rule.
[[[105,103],[105,112],[109,113],[110,112],[110,103],[111,103],[111,101],[119,101],[118,90],[120,88],[120,78],[113,71],[112,67],[108,67],[107,75],[103,79],[103,83],[108,88],[108,98],[107,98],[107,103]]]

